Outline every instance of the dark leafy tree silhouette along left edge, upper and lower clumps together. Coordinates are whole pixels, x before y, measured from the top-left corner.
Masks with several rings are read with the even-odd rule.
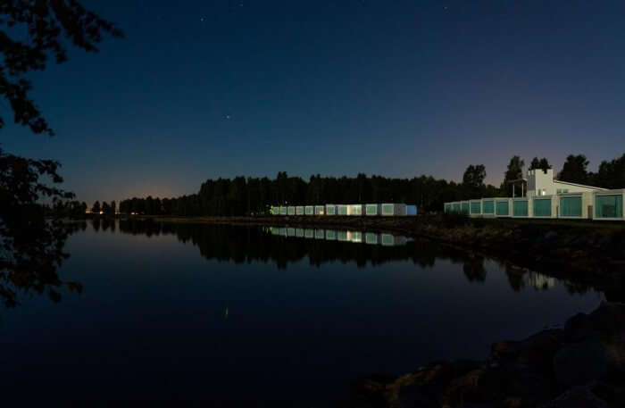
[[[22,35],[27,33],[26,36]],[[65,42],[87,52],[109,33],[121,31],[75,0],[0,2],[0,96],[11,106],[13,121],[34,133],[53,135],[54,131],[29,96],[31,84],[26,75],[46,68],[50,56],[56,63],[67,60]],[[0,129],[4,128],[0,117]],[[19,290],[47,292],[58,301],[54,287],[63,284],[56,268],[69,233],[58,217],[46,218],[42,199],[57,204],[72,193],[47,186],[63,182],[60,164],[6,154],[0,150],[0,300],[7,306],[17,303]],[[71,289],[79,285],[68,282]]]

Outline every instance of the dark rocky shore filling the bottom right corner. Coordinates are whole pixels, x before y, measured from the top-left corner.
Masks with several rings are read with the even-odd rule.
[[[623,407],[625,304],[604,303],[562,329],[496,342],[484,362],[432,362],[395,379],[359,379],[348,406]]]

